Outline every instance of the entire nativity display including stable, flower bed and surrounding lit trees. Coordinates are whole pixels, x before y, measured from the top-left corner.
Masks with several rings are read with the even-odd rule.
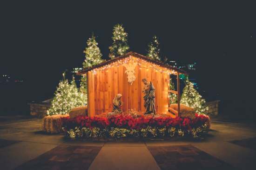
[[[75,72],[81,77],[80,89],[63,77],[43,120],[45,132],[64,132],[73,139],[197,138],[208,132],[205,101],[189,82],[181,98],[180,76],[188,74],[161,61],[157,38],[155,45],[149,44],[147,57],[128,52],[121,25],[115,25],[112,39],[107,61],[101,59],[95,37],[88,39],[83,69]]]

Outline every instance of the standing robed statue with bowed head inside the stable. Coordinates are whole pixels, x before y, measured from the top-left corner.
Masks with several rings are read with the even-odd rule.
[[[155,88],[152,82],[148,82],[147,79],[143,78],[144,88],[142,93],[144,93],[144,107],[146,108],[145,114],[156,113],[155,111]]]

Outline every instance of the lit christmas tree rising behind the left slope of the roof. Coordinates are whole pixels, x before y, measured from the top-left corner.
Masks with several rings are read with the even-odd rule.
[[[98,43],[96,42],[94,35],[92,35],[92,38],[89,38],[87,40],[87,47],[83,51],[83,53],[85,53],[85,60],[83,63],[84,69],[92,67],[104,61],[103,59],[101,59],[101,50],[97,45]]]

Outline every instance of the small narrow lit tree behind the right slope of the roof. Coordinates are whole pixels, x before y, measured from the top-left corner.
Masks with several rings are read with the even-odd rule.
[[[153,36],[153,41],[148,44],[148,57],[154,60],[161,60],[160,57],[160,43],[156,36]]]

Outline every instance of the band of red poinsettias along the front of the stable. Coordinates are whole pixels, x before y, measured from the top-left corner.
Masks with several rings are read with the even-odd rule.
[[[88,116],[78,116],[76,118],[64,117],[61,118],[63,126],[67,128],[74,128],[75,126],[82,127],[121,127],[128,129],[141,129],[147,126],[152,127],[182,127],[185,129],[191,129],[192,127],[201,126],[207,124],[209,126],[209,116],[203,114],[195,114],[195,119],[191,120],[189,118],[171,118],[171,117],[157,117],[152,116],[141,116],[134,118],[130,115],[113,115],[111,117],[88,117]]]

